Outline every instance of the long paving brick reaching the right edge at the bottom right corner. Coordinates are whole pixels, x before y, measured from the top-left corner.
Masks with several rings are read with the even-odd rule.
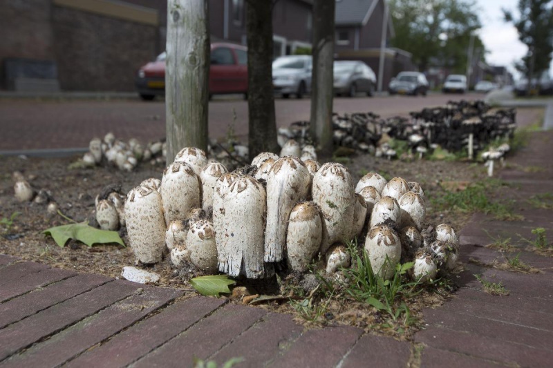
[[[415,333],[415,341],[436,349],[521,367],[551,367],[553,360],[552,351],[443,328],[419,331]]]

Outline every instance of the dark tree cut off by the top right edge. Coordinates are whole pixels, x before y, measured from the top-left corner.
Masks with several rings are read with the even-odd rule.
[[[528,81],[539,77],[549,69],[553,52],[553,1],[518,0],[518,19],[512,12],[503,10],[505,21],[513,23],[518,30],[518,39],[528,51],[516,64],[516,69],[527,77]],[[532,83],[527,84],[532,88]]]

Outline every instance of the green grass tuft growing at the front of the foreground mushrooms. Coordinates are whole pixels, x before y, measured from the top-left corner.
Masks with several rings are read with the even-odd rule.
[[[371,261],[364,249],[362,255],[357,252],[357,247],[350,244],[348,251],[352,257],[353,265],[350,269],[343,269],[344,276],[348,280],[343,286],[351,297],[359,302],[371,304],[379,311],[388,313],[393,320],[405,318],[411,319],[409,307],[401,302],[403,297],[414,296],[418,291],[415,287],[418,282],[407,281],[407,271],[413,267],[414,262],[397,264],[391,280],[382,278],[373,272]],[[386,258],[383,267],[390,267],[390,260]]]

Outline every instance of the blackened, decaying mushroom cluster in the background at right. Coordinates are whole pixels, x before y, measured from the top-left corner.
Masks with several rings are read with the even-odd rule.
[[[408,155],[422,158],[435,148],[472,153],[498,138],[512,138],[516,128],[514,108],[491,108],[484,101],[449,101],[447,105],[424,108],[410,117],[381,119],[374,113],[353,113],[332,117],[335,146],[353,148],[377,157],[392,159],[398,153],[391,139],[406,142]],[[279,129],[279,144],[288,139],[309,142],[309,122],[294,122]]]

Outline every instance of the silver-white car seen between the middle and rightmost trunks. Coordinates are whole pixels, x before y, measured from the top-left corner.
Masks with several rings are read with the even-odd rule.
[[[281,56],[272,62],[274,93],[284,98],[303,97],[311,91],[312,57],[310,55]]]

